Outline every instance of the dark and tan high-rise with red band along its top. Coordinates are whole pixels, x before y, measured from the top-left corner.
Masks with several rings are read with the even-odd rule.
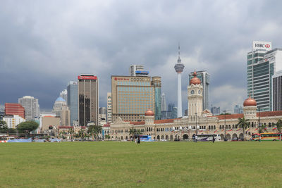
[[[78,76],[78,125],[99,125],[98,78],[94,75]]]

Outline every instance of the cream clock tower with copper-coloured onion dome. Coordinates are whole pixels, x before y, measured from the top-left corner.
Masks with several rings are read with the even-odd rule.
[[[202,84],[201,80],[197,77],[196,71],[193,73],[193,78],[187,87],[188,89],[188,116],[201,115],[202,114]]]

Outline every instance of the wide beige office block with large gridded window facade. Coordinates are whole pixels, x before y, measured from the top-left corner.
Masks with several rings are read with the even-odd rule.
[[[111,76],[112,121],[118,117],[123,120],[144,120],[145,111],[156,110],[156,94],[160,94],[161,77]],[[158,89],[156,89],[158,88]],[[160,105],[160,98],[157,101]],[[159,111],[160,112],[160,111]]]

